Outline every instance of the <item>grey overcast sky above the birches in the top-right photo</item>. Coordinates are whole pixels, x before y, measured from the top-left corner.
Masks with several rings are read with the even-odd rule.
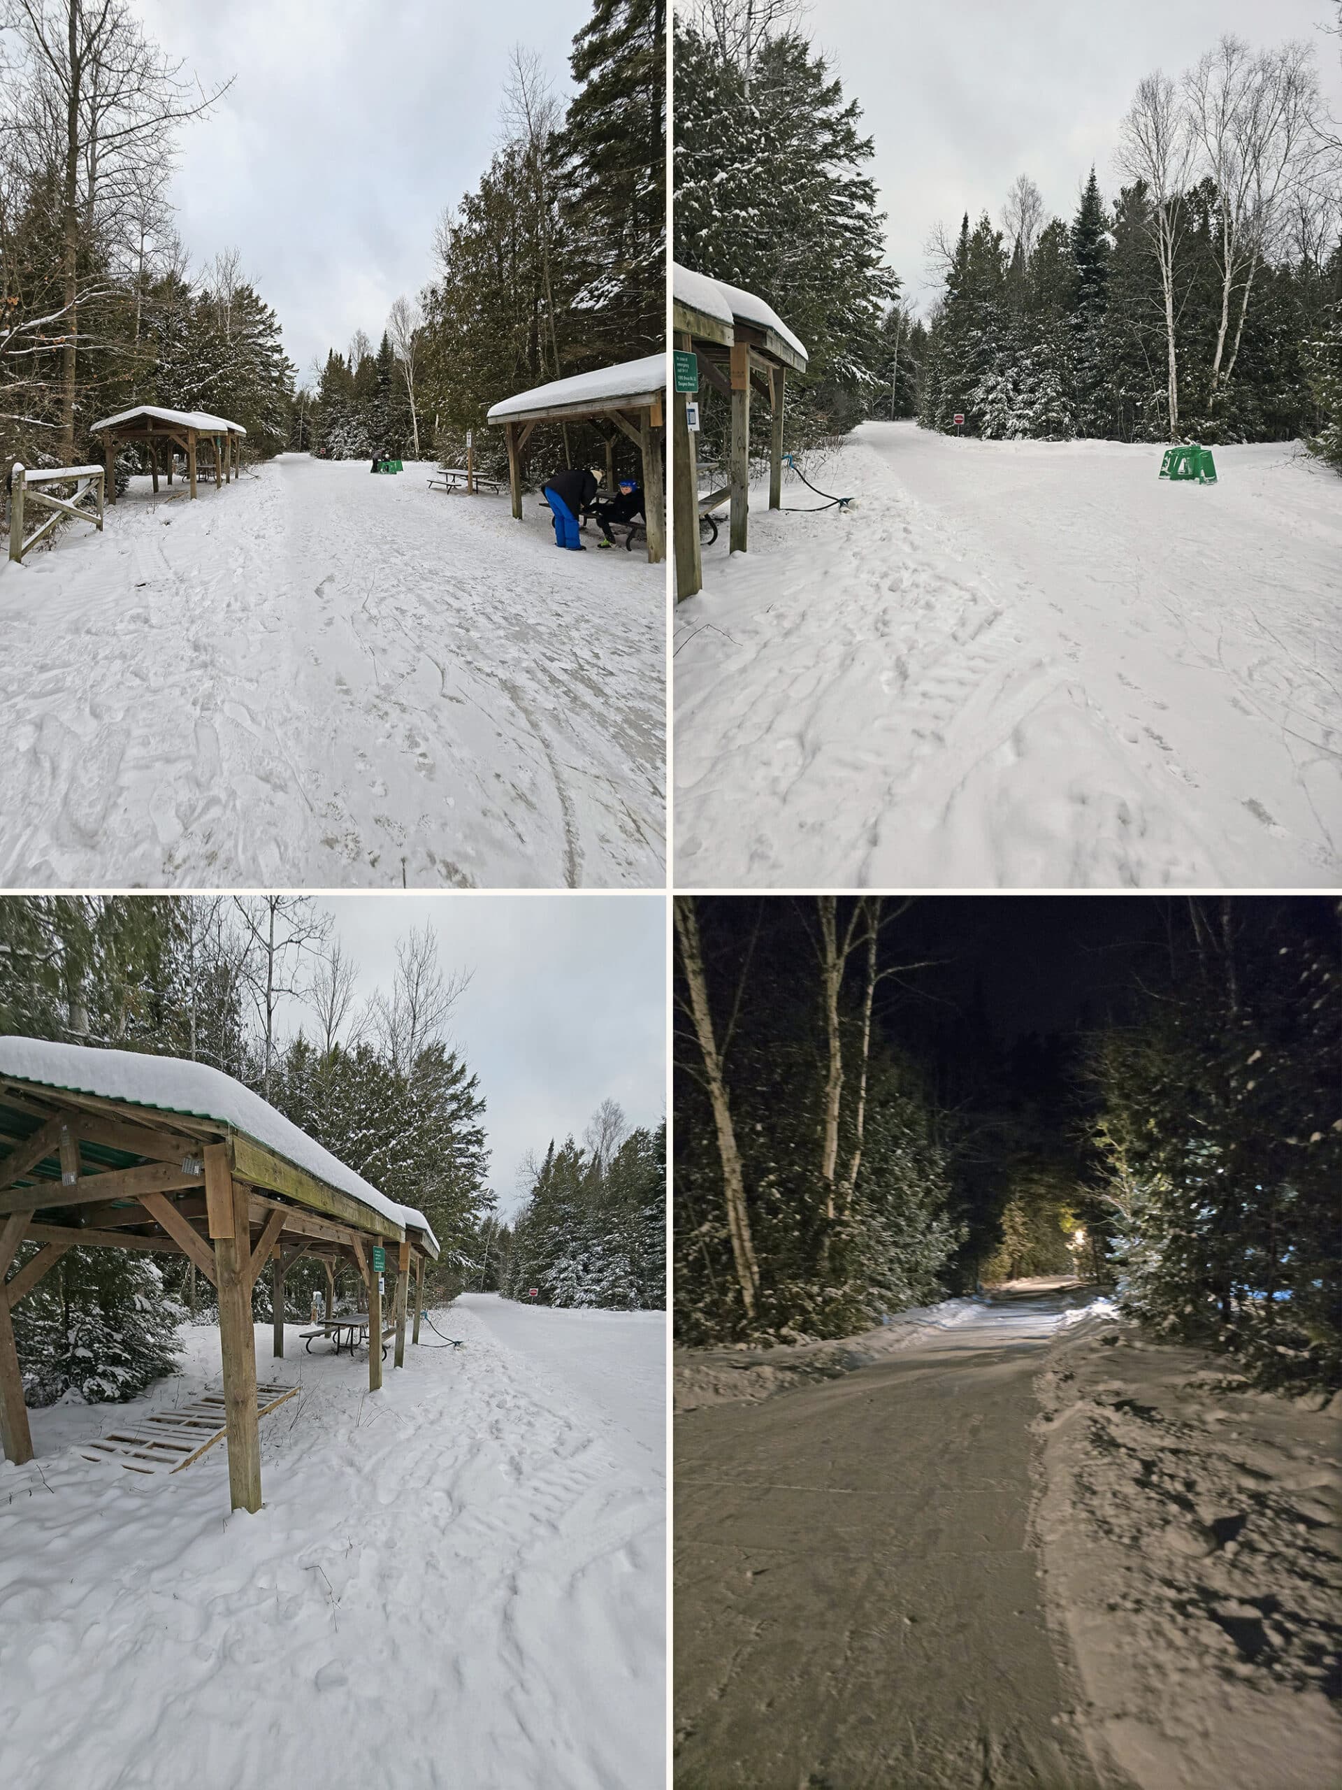
[[[1113,150],[1133,90],[1152,68],[1177,75],[1222,32],[1254,47],[1319,47],[1324,91],[1342,116],[1337,38],[1315,27],[1328,0],[812,0],[807,30],[834,59],[875,138],[889,260],[927,310],[938,283],[923,243],[964,211],[1000,224],[1006,190],[1029,174],[1049,215],[1072,218],[1091,161],[1117,192]]]

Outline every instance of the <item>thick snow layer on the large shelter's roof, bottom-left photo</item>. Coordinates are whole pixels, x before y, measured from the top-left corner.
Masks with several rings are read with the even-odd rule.
[[[209,1119],[240,1131],[327,1187],[361,1199],[403,1230],[410,1224],[424,1232],[433,1248],[438,1246],[422,1212],[379,1194],[361,1174],[347,1169],[338,1156],[222,1069],[188,1063],[181,1056],[98,1051],[84,1044],[50,1044],[45,1038],[0,1038],[0,1076],[188,1119]]]

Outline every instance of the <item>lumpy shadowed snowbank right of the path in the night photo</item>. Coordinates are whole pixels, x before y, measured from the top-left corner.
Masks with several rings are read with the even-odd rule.
[[[1337,1423],[1077,1316],[1036,1382],[1034,1527],[1097,1760],[1140,1790],[1338,1783]]]

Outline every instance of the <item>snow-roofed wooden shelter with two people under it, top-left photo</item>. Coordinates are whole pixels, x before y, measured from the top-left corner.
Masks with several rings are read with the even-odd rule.
[[[508,485],[517,521],[522,519],[522,449],[537,422],[607,422],[628,435],[642,456],[648,562],[660,564],[666,558],[664,399],[666,354],[646,354],[571,379],[551,379],[494,405],[488,421],[501,424],[508,440]],[[607,478],[610,467],[607,446]]]

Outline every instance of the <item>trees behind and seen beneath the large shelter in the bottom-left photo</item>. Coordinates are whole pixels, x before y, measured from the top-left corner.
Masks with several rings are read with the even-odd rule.
[[[329,915],[297,895],[2,897],[0,1033],[209,1063],[270,1101],[440,1244],[429,1298],[474,1273],[494,1219],[480,1085],[442,1035],[469,976],[429,929],[397,943],[388,990],[356,999],[358,967]],[[299,1002],[295,1035],[281,1015]],[[23,1246],[30,1253],[32,1246]],[[256,1316],[270,1316],[261,1276]],[[295,1317],[326,1292],[319,1264],[286,1278]],[[174,1334],[209,1317],[191,1264],[70,1249],[14,1310],[30,1403],[66,1389],[131,1398],[170,1371]]]

